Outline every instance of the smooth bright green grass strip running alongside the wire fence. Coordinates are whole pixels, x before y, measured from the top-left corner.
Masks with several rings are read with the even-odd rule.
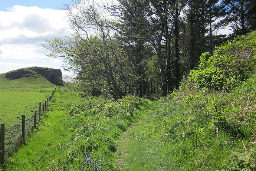
[[[72,99],[78,104],[83,103],[74,93],[56,93],[37,124],[38,129],[29,135],[25,145],[7,159],[7,171],[47,171],[61,160],[73,145],[75,133],[72,129],[81,125],[77,118],[66,115],[68,104],[73,103]]]

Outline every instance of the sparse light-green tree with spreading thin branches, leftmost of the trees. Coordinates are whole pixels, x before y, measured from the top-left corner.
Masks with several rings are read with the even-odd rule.
[[[78,78],[89,82],[92,89],[103,84],[114,99],[121,98],[133,72],[126,65],[127,56],[119,48],[120,42],[111,37],[109,19],[99,12],[93,1],[75,1],[73,7],[66,5],[66,10],[70,27],[76,34],[49,40],[45,46],[49,56],[64,57],[70,68],[78,72]],[[96,34],[89,36],[92,30]]]

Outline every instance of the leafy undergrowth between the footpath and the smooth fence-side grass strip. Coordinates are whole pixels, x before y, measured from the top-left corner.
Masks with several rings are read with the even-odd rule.
[[[141,98],[126,96],[116,102],[101,100],[88,109],[72,106],[67,114],[80,118],[83,125],[74,130],[76,145],[55,165],[56,169],[113,169],[115,141],[122,131],[140,118],[138,109],[144,104]]]

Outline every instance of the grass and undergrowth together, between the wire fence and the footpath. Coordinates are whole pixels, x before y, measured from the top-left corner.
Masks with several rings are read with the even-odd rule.
[[[117,102],[80,98],[60,88],[38,130],[8,158],[6,170],[113,170],[116,139],[150,103],[135,96]]]

